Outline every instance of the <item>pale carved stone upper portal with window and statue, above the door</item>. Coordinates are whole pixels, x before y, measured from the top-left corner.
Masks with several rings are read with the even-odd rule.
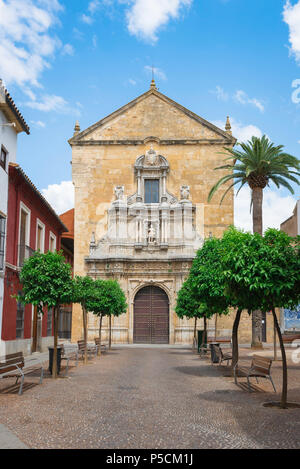
[[[195,230],[190,187],[179,188],[180,199],[168,192],[169,163],[152,146],[137,158],[134,172],[136,192],[126,198],[124,186],[114,188],[108,231],[98,243],[92,236],[90,259],[194,255],[202,240]]]

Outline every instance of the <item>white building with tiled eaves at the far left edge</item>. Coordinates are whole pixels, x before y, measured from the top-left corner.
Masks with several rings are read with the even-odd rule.
[[[8,164],[16,162],[17,138],[20,132],[29,134],[29,127],[0,80],[0,356],[3,353],[1,326],[5,281]]]

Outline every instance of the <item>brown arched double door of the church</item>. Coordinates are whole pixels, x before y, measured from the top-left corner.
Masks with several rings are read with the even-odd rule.
[[[159,287],[144,287],[135,296],[133,342],[169,343],[169,299]]]

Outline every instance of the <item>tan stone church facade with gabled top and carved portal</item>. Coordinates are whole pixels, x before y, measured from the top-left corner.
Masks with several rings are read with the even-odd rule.
[[[113,320],[113,342],[191,343],[193,322],[176,316],[176,297],[204,239],[233,224],[233,191],[221,206],[221,194],[207,202],[223,175],[214,171],[224,161],[220,153],[236,143],[229,120],[225,131],[215,127],[152,81],[149,91],[88,129],[77,123],[69,143],[74,273],[117,279],[127,297],[127,314]],[[218,319],[219,334],[230,335],[232,321]],[[92,340],[98,336],[92,314],[88,327]],[[250,341],[247,314],[241,334]],[[81,337],[75,306],[72,340]]]

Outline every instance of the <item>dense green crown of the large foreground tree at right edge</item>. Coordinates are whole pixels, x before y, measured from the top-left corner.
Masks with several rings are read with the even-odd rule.
[[[298,304],[299,237],[275,229],[262,237],[231,228],[222,242],[225,289],[238,307],[270,311]]]

